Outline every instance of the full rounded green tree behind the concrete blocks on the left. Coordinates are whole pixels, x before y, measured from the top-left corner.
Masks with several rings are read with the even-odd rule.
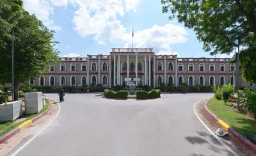
[[[58,51],[53,41],[54,31],[38,20],[35,15],[23,11],[13,27],[14,41],[14,77],[15,100],[18,99],[19,83],[38,78],[42,72],[59,61]],[[5,40],[6,49],[0,48],[0,81],[12,82],[12,40]]]

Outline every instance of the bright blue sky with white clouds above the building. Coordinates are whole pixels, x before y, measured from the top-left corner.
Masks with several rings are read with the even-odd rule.
[[[111,48],[152,48],[179,58],[207,57],[195,32],[168,20],[161,0],[23,0],[24,8],[49,29],[60,57],[109,54]],[[225,54],[218,58],[227,58]]]

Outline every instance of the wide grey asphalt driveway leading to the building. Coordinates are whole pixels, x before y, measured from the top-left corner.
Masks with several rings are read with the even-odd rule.
[[[58,100],[57,94],[46,96]],[[212,94],[164,96],[124,101],[66,94],[58,117],[17,155],[232,155],[193,110],[195,102]]]

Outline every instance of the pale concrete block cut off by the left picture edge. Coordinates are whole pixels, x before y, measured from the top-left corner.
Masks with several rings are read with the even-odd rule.
[[[22,116],[22,101],[7,102],[0,105],[0,122],[13,121]]]

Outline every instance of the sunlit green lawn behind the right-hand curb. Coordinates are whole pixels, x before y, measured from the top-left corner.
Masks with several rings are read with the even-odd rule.
[[[225,105],[223,100],[212,98],[208,102],[207,107],[212,113],[216,114],[216,116],[225,121],[230,127],[236,129],[243,136],[245,136],[245,132],[256,136],[256,121],[237,112],[229,102]]]

